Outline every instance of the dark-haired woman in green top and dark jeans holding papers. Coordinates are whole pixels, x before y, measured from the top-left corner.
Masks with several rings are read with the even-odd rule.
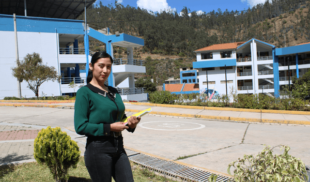
[[[74,125],[80,135],[87,136],[85,166],[93,182],[133,182],[133,175],[123,146],[122,131],[134,132],[140,117],[130,117],[118,91],[105,85],[113,59],[106,52],[96,52],[87,76],[87,85],[77,92]]]

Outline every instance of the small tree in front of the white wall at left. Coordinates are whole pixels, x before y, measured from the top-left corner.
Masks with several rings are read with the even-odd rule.
[[[12,68],[13,76],[20,82],[27,81],[28,88],[39,97],[39,87],[45,81],[51,80],[58,82],[61,76],[53,66],[43,64],[42,58],[38,53],[27,54],[23,61],[17,61],[17,67]]]

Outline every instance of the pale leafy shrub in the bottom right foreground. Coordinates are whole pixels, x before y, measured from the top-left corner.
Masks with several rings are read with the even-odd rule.
[[[273,149],[279,147],[284,152],[273,155]],[[229,164],[227,172],[231,174],[234,167],[234,182],[308,182],[305,164],[288,152],[290,147],[279,145],[271,148],[267,146],[256,157],[244,155],[237,161]],[[209,178],[209,182],[215,182],[216,175]]]

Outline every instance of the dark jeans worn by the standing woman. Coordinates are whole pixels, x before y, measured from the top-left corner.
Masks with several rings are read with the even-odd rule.
[[[129,159],[124,150],[123,136],[87,138],[85,166],[93,182],[133,182]]]

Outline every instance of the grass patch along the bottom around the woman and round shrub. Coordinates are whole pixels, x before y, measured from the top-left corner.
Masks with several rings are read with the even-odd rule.
[[[130,162],[135,182],[176,182],[156,175],[153,171]],[[68,182],[92,182],[85,167],[84,157],[80,157],[78,167],[69,169]],[[55,182],[47,166],[36,162],[18,165],[16,167],[0,168],[0,182]],[[112,179],[112,182],[114,180]]]

